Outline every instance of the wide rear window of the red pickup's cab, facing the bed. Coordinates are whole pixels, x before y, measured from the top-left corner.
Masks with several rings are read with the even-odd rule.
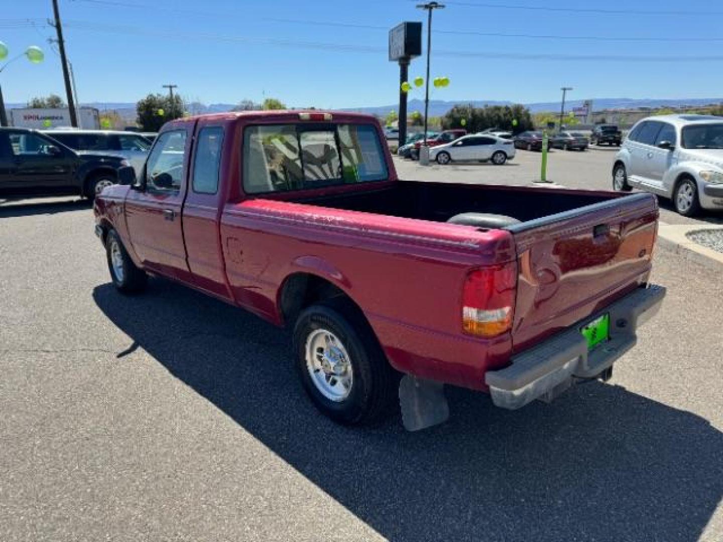
[[[370,124],[280,124],[244,130],[247,194],[387,178],[385,155]]]

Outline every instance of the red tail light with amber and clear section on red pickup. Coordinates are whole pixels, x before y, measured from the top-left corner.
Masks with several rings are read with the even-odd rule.
[[[496,337],[512,327],[517,264],[474,270],[462,293],[462,329],[468,335]]]

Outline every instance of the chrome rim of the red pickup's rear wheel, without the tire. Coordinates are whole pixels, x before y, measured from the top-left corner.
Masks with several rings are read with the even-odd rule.
[[[324,329],[309,333],[306,362],[312,382],[324,397],[339,403],[349,396],[354,370],[346,348],[336,335]]]

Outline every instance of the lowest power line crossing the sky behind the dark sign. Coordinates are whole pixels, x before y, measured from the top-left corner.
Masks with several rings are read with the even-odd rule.
[[[132,35],[150,35],[171,39],[207,39],[222,42],[259,43],[264,45],[281,46],[289,48],[310,48],[333,52],[352,53],[385,53],[386,47],[361,46],[348,43],[324,43],[316,41],[291,40],[285,38],[249,38],[239,35],[222,35],[216,33],[190,33],[163,30],[142,29],[139,27],[124,27],[103,25],[94,22],[68,21],[66,27],[77,30],[86,30],[100,33],[125,33]],[[482,58],[482,59],[508,59],[508,60],[552,60],[552,61],[615,61],[615,62],[719,62],[723,61],[721,55],[597,55],[597,54],[568,54],[568,53],[505,53],[500,51],[437,51],[436,56],[451,58]]]

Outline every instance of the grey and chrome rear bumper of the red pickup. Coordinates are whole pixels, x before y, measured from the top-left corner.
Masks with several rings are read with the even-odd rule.
[[[492,402],[514,410],[535,399],[552,400],[576,379],[604,374],[635,346],[636,330],[655,316],[664,297],[662,286],[638,288],[572,329],[513,356],[510,366],[485,375]],[[609,340],[589,351],[580,328],[602,314],[610,315]]]

